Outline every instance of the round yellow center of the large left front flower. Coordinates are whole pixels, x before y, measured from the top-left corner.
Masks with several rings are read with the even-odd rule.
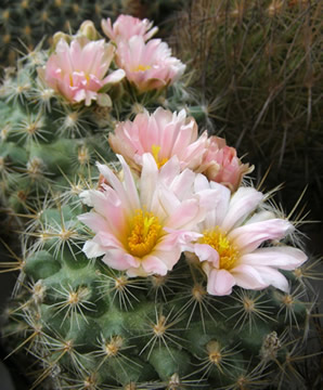
[[[131,255],[142,258],[150,253],[160,236],[162,225],[152,212],[138,210],[131,221],[128,247]]]

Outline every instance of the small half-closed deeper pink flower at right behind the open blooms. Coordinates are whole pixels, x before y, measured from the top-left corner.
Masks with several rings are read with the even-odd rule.
[[[233,192],[240,186],[244,174],[250,173],[253,169],[253,166],[242,164],[236,156],[236,150],[227,146],[225,140],[210,136],[207,141],[207,153],[198,171],[208,180],[221,183]]]

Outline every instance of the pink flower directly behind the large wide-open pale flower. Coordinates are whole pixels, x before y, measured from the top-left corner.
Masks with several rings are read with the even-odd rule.
[[[184,109],[177,114],[159,107],[152,115],[144,112],[133,121],[118,123],[108,142],[113,151],[138,171],[144,153],[154,156],[158,168],[176,155],[182,170],[195,170],[206,152],[207,134],[197,136],[197,125],[192,117],[186,117]]]

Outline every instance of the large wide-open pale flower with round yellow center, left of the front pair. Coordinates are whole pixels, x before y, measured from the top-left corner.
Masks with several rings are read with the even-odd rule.
[[[102,182],[100,191],[80,195],[93,209],[79,220],[95,234],[82,250],[89,258],[104,255],[107,265],[129,276],[165,275],[178,262],[182,245],[196,239],[190,229],[204,219],[212,193],[194,193],[199,174],[189,169],[180,173],[176,157],[158,170],[154,157],[144,154],[137,181],[118,158],[122,181],[107,166],[98,165],[109,184]]]

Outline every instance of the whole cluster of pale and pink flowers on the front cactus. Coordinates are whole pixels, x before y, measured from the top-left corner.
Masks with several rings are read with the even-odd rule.
[[[288,290],[279,271],[307,257],[282,240],[294,231],[266,205],[264,195],[242,185],[248,165],[224,140],[208,136],[184,110],[157,108],[119,122],[109,144],[122,179],[99,165],[99,190],[81,194],[92,210],[79,217],[94,232],[83,251],[129,276],[166,275],[181,253],[207,276],[211,295],[233,286]],[[276,245],[275,243],[279,243]]]

